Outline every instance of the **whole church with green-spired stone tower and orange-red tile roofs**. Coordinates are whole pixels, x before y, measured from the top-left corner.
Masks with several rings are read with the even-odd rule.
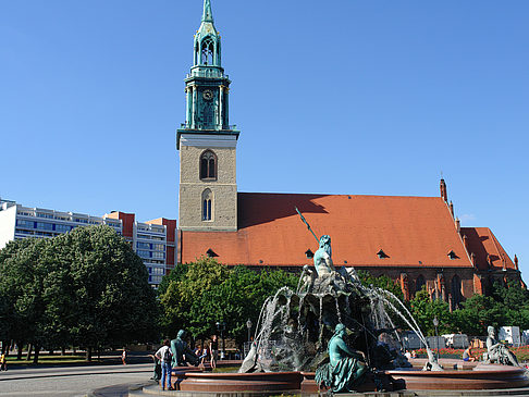
[[[179,263],[201,256],[227,265],[300,270],[318,249],[296,208],[332,239],[334,265],[385,274],[406,299],[426,286],[456,308],[494,281],[522,283],[518,260],[490,228],[460,227],[446,184],[439,197],[239,193],[239,132],[229,123],[230,79],[210,0],[195,35],[185,78],[186,117],[180,151]],[[337,150],[337,148],[336,148]]]

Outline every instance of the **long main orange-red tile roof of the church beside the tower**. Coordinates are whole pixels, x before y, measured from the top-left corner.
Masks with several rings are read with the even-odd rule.
[[[333,260],[358,266],[471,266],[446,203],[440,197],[238,194],[237,232],[183,232],[182,261],[211,249],[221,263],[303,265],[329,234]],[[389,258],[380,259],[382,249]],[[450,259],[454,251],[456,259]]]

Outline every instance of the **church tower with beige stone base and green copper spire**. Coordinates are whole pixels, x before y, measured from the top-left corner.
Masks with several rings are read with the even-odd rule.
[[[237,229],[239,132],[229,125],[230,83],[221,66],[221,38],[213,25],[211,2],[205,0],[193,66],[185,78],[186,120],[176,131],[181,231]]]

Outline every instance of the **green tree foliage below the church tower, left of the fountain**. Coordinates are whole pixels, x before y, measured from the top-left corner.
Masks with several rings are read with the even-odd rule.
[[[206,257],[179,265],[164,278],[160,301],[168,336],[185,328],[195,338],[206,338],[217,333],[217,322],[224,322],[226,335],[238,343],[246,340],[246,321],[256,324],[264,299],[282,286],[297,284],[296,275],[283,271],[256,273]]]

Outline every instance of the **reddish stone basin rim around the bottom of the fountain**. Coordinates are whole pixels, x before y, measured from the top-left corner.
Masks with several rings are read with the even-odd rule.
[[[442,362],[445,368],[447,362]],[[455,360],[454,360],[455,361]],[[462,363],[460,360],[458,360]],[[398,381],[408,390],[483,390],[521,388],[529,386],[529,377],[522,368],[465,363],[463,370],[440,372],[391,370],[385,374]],[[253,394],[318,393],[313,372],[264,373],[208,373],[180,372],[175,374],[175,388],[182,392]],[[361,392],[374,390],[374,384],[366,383]],[[267,393],[268,392],[268,393]]]

